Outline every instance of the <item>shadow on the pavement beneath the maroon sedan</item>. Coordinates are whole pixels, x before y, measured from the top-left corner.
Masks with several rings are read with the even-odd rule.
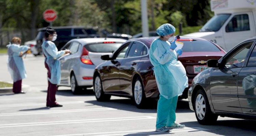
[[[94,105],[99,105],[103,107],[116,108],[125,111],[139,112],[139,113],[156,113],[157,102],[152,100],[148,101],[147,106],[144,109],[139,109],[136,107],[132,99],[113,99],[106,102],[85,101],[85,103],[91,103]],[[189,109],[188,102],[185,100],[179,100],[177,103],[176,113],[189,113],[193,112]]]

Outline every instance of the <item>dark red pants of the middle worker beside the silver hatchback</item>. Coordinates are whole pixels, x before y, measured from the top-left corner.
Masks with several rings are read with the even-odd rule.
[[[49,69],[46,62],[44,63],[44,65],[47,69],[47,77],[51,78],[51,70]],[[57,84],[52,84],[50,81],[48,81],[46,106],[52,106],[52,105],[56,104],[55,94],[56,94],[57,89],[58,89]]]

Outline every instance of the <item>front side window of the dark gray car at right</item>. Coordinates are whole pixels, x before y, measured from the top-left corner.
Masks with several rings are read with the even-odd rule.
[[[245,57],[250,50],[253,42],[246,43],[241,46],[236,52],[234,52],[226,61],[225,66],[227,68],[237,68],[242,67],[245,61]]]

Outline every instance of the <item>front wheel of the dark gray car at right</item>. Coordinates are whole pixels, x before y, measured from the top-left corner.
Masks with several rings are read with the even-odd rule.
[[[194,107],[197,121],[200,124],[214,124],[217,121],[218,115],[212,113],[207,95],[202,89],[197,91]]]

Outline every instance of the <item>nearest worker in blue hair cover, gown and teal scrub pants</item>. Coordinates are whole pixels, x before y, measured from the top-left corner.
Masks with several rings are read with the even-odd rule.
[[[174,128],[184,128],[185,125],[175,123],[175,109],[178,96],[188,87],[186,70],[178,55],[182,50],[175,51],[176,38],[172,43],[168,39],[174,36],[175,28],[169,24],[162,24],[156,33],[160,37],[154,40],[150,47],[150,62],[154,66],[154,75],[160,92],[157,104],[156,131],[168,132]]]

